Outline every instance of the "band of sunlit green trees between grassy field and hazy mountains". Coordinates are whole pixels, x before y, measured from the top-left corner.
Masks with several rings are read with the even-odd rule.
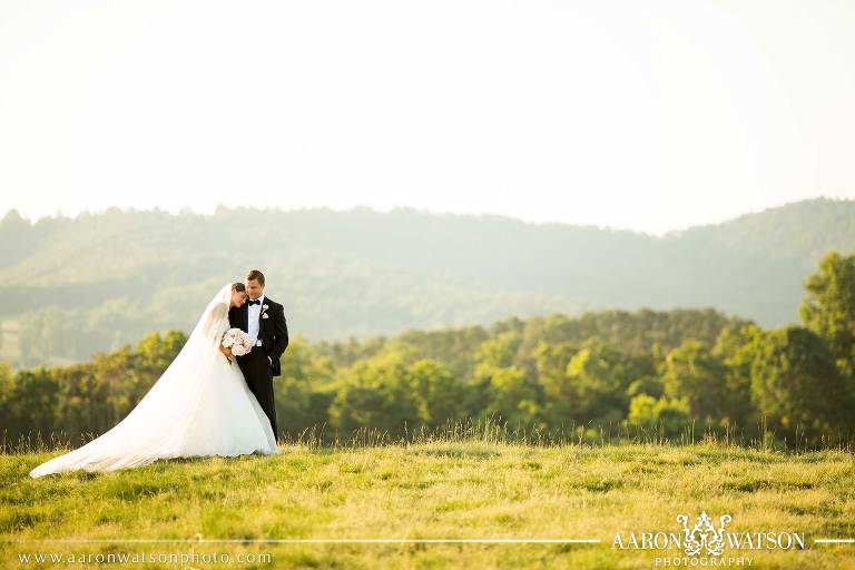
[[[667,438],[694,423],[832,445],[855,439],[855,254],[829,252],[803,283],[800,324],[764,330],[712,308],[511,317],[391,337],[306,342],[275,379],[281,438],[311,429],[393,436],[466,419],[594,439],[603,426]],[[68,366],[0,364],[0,432],[88,441],[119,422],[186,335]]]

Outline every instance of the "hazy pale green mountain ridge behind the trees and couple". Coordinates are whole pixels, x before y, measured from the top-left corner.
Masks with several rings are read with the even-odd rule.
[[[855,249],[855,200],[790,203],[661,237],[412,208],[112,208],[36,223],[10,210],[0,320],[20,324],[23,361],[86,357],[187,330],[212,291],[258,267],[309,340],[601,308],[715,307],[778,326],[797,320],[802,282],[832,248]]]

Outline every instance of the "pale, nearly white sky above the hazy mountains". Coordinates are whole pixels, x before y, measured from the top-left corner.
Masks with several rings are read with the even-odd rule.
[[[855,197],[849,0],[0,0],[0,215]]]

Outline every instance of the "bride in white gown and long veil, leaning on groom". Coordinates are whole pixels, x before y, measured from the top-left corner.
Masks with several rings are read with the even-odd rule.
[[[210,299],[187,343],[137,406],[112,429],[30,471],[115,471],[161,458],[279,453],[271,421],[240,367],[220,352],[228,309],[248,295],[228,283]]]

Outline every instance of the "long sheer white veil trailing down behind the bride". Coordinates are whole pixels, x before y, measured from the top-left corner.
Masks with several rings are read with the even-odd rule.
[[[219,337],[228,328],[232,284],[208,302],[187,343],[131,412],[102,435],[63,455],[38,465],[33,478],[59,471],[112,471],[150,463],[158,458],[181,456],[205,446],[206,433],[189,430],[203,402],[219,352]],[[214,436],[214,435],[212,435]]]

